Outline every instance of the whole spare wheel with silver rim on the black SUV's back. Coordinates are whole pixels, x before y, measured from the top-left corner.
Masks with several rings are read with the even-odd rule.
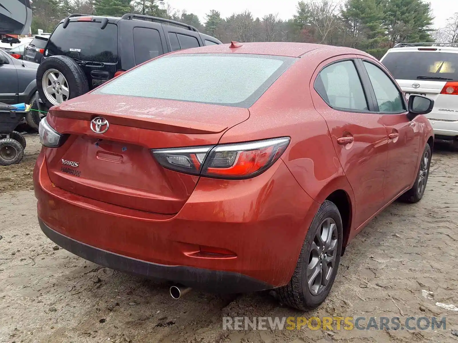
[[[37,88],[48,108],[89,91],[81,67],[70,57],[62,55],[43,59],[37,70]]]

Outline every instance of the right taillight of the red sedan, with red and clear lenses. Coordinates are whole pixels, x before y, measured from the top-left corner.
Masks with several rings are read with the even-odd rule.
[[[289,137],[246,143],[151,150],[167,169],[224,179],[245,179],[266,171],[280,158]]]

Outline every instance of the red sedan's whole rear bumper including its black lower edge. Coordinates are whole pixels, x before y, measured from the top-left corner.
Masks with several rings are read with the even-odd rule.
[[[217,292],[287,284],[319,207],[281,160],[249,180],[201,178],[177,214],[56,187],[43,151],[33,178],[40,225],[58,245],[109,268]]]

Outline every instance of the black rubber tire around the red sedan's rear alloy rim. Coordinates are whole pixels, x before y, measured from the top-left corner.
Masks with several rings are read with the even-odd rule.
[[[311,252],[315,252],[316,249],[312,249],[314,244],[314,240],[316,240],[316,233],[318,230],[321,230],[322,224],[326,222],[328,219],[331,219],[335,222],[335,231],[333,231],[332,237],[337,239],[335,243],[335,249],[333,249],[333,258],[334,258],[334,266],[331,271],[329,271],[330,276],[327,280],[326,285],[322,285],[322,290],[319,291],[317,294],[312,294],[311,288],[308,284],[308,267],[309,263],[312,261],[316,261],[316,266],[318,270],[322,270],[319,268],[318,263],[320,266],[322,265],[323,259],[318,257],[316,260],[315,257],[310,260]],[[326,200],[324,203],[321,204],[318,212],[313,219],[312,224],[305,236],[305,241],[300,251],[299,259],[296,264],[296,268],[294,270],[293,276],[289,281],[289,284],[278,288],[278,295],[280,300],[298,310],[307,311],[313,308],[318,307],[327,297],[331,287],[334,283],[334,279],[337,274],[338,266],[340,263],[340,255],[342,252],[342,218],[340,217],[340,213],[338,208],[332,202]],[[320,254],[319,256],[321,256]],[[329,257],[327,253],[324,254],[326,258]],[[322,281],[320,282],[320,285]]]

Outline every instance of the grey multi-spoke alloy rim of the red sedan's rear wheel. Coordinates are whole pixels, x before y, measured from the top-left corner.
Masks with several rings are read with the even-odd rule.
[[[337,225],[328,217],[318,226],[311,244],[307,284],[312,295],[319,295],[329,284],[336,264],[337,247]]]

